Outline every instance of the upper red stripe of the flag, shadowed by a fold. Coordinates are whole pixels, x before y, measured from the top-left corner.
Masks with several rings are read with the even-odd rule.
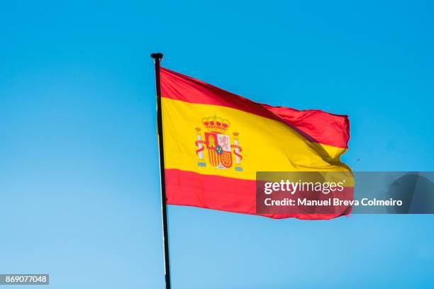
[[[189,103],[226,106],[291,126],[308,140],[323,145],[347,148],[350,122],[347,115],[335,115],[320,110],[297,111],[294,108],[274,107],[255,103],[204,81],[161,68],[162,97]]]

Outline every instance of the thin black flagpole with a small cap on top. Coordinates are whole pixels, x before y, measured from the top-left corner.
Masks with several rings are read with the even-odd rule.
[[[161,115],[161,86],[160,86],[160,61],[162,53],[152,53],[155,60],[155,84],[157,88],[157,131],[158,149],[160,150],[160,183],[161,183],[161,212],[163,225],[163,243],[165,245],[165,279],[166,289],[170,289],[170,263],[169,263],[169,234],[167,232],[167,203],[166,203],[166,179],[165,179],[165,150],[163,148],[162,115]]]

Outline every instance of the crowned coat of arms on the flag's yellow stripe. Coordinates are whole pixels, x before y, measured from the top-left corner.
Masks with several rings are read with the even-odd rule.
[[[208,162],[211,166],[218,169],[230,169],[233,166],[233,156],[235,156],[235,171],[243,171],[241,160],[242,151],[238,145],[238,132],[233,132],[233,143],[230,142],[230,135],[227,131],[230,127],[229,120],[218,118],[216,115],[203,118],[202,124],[206,130],[204,139],[202,138],[201,128],[196,128],[197,140],[195,142],[198,149],[196,154],[199,157],[199,166],[206,166],[204,151],[208,152]]]

